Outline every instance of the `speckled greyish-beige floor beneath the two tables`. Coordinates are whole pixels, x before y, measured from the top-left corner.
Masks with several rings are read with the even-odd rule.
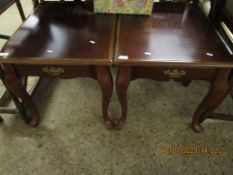
[[[102,124],[96,81],[44,79],[34,96],[42,118],[37,128],[25,125],[17,114],[2,115],[0,174],[231,175],[233,122],[206,120],[201,134],[189,126],[208,88],[204,81],[188,87],[173,81],[134,81],[125,128],[109,131]],[[218,111],[233,113],[232,99]],[[115,92],[109,114],[120,116]],[[190,147],[203,153],[184,153]],[[168,153],[168,148],[183,151]],[[206,148],[213,153],[205,153]]]

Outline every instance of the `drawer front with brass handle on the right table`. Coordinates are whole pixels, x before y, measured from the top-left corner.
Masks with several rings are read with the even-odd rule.
[[[158,81],[211,81],[217,69],[214,68],[174,68],[174,67],[135,67],[133,78],[150,78]]]

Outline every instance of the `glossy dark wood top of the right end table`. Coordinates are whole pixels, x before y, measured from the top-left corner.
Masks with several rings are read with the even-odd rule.
[[[233,67],[231,51],[195,4],[168,8],[120,15],[115,64]]]

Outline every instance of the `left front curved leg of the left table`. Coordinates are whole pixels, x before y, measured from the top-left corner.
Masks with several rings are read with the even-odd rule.
[[[24,88],[22,81],[17,77],[14,68],[10,64],[4,64],[4,83],[13,95],[22,100],[31,112],[31,119],[28,122],[30,126],[37,126],[39,123],[39,112],[30,95]]]

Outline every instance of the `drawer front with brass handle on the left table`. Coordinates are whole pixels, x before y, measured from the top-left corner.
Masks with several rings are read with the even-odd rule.
[[[20,76],[40,76],[48,78],[92,77],[93,66],[72,65],[14,65]]]

